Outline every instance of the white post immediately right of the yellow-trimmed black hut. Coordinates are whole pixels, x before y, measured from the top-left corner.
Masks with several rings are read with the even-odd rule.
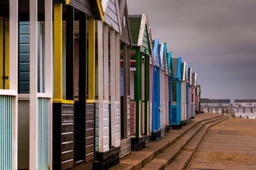
[[[98,104],[99,104],[99,152],[104,152],[104,125],[103,125],[103,97],[104,97],[104,80],[103,80],[103,24],[97,21],[98,35]]]

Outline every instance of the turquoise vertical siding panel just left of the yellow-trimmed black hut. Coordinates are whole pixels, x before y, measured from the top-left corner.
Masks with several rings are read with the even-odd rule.
[[[38,170],[48,168],[49,99],[38,98]]]

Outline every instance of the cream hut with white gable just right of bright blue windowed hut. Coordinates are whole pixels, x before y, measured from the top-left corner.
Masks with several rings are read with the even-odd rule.
[[[182,107],[182,121],[184,124],[188,123],[187,117],[187,108],[186,108],[186,81],[187,81],[187,74],[186,74],[186,62],[182,62],[182,82],[181,82],[181,107]]]

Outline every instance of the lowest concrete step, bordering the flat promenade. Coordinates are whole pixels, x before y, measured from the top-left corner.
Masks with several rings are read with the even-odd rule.
[[[209,127],[211,127],[212,125],[219,124],[220,122],[223,122],[227,118],[228,117],[223,117],[220,120],[217,120],[216,122],[211,122],[210,124],[207,124],[204,127],[202,127],[200,132],[198,132],[195,135],[195,137],[189,142],[189,144],[182,150],[180,155],[166,169],[168,170],[186,169],[186,167],[188,167],[189,162],[195,155],[196,150],[200,145],[202,139],[204,138],[204,135],[209,129]]]

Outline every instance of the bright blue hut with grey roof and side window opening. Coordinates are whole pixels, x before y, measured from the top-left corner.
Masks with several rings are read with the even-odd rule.
[[[171,124],[172,127],[180,127],[182,124],[182,108],[181,108],[181,81],[182,81],[182,67],[181,57],[172,58],[173,77],[172,77],[172,113]]]

